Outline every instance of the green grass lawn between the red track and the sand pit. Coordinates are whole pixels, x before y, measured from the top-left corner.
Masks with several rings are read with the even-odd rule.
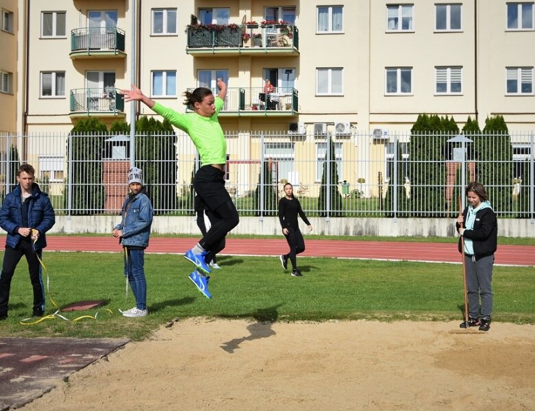
[[[0,253],[3,254],[3,253]],[[3,255],[2,255],[3,257]],[[188,279],[192,264],[182,256],[145,254],[149,316],[127,319],[118,311],[135,306],[131,290],[125,299],[121,253],[43,253],[51,296],[59,306],[105,300],[105,306],[63,313],[64,321],[35,325],[20,321],[32,313],[27,264],[14,275],[9,319],[0,336],[57,336],[140,340],[160,325],[189,316],[257,321],[325,321],[331,319],[462,320],[464,297],[460,264],[377,262],[299,258],[303,277],[282,271],[277,258],[221,256],[221,270],[210,279],[211,300]],[[535,323],[535,268],[496,266],[493,321]],[[43,281],[47,282],[44,273]],[[111,313],[108,312],[109,309]],[[54,312],[47,295],[47,314]]]

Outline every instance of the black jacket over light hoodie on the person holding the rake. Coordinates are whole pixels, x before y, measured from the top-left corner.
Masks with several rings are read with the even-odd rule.
[[[468,208],[462,212],[464,221],[468,215]],[[456,223],[459,229],[459,223]],[[492,208],[483,208],[475,214],[473,229],[464,230],[464,238],[473,241],[474,255],[476,258],[492,256],[498,244],[498,223],[496,214]],[[459,238],[459,252],[462,253],[461,238]]]

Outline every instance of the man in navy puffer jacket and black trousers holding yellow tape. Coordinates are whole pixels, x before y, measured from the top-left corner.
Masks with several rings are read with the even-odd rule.
[[[29,278],[34,288],[34,316],[45,313],[45,288],[42,285],[42,249],[47,247],[45,233],[55,223],[48,195],[34,183],[35,170],[23,164],[16,172],[18,185],[5,196],[0,209],[0,227],[5,238],[0,274],[0,320],[8,318],[11,279],[22,256],[28,262]]]

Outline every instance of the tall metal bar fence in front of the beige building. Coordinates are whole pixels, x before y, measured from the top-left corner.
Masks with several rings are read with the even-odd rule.
[[[534,219],[534,134],[227,133],[226,187],[241,215],[276,215],[290,182],[308,216],[453,217],[477,180],[497,214]],[[198,155],[188,136],[136,136],[136,166],[156,214],[193,212]],[[129,136],[0,134],[0,199],[22,162],[58,214],[117,214],[127,194]]]

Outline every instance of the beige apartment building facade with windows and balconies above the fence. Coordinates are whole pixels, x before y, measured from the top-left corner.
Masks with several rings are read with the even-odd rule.
[[[481,126],[503,114],[510,129],[535,127],[530,1],[0,0],[0,8],[3,132],[68,132],[88,116],[129,121],[132,104],[116,89],[129,87],[132,70],[147,95],[179,112],[184,90],[223,77],[220,121],[236,132],[406,131],[424,112]],[[204,26],[190,27],[192,15]]]

